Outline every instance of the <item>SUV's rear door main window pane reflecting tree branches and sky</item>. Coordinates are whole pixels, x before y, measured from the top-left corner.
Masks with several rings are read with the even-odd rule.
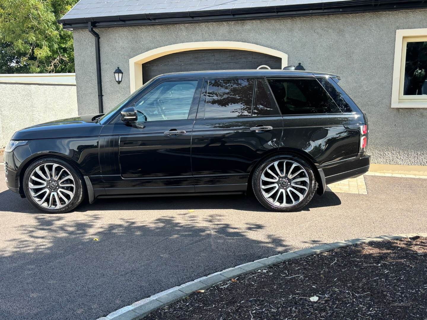
[[[205,118],[250,116],[254,79],[209,80]]]

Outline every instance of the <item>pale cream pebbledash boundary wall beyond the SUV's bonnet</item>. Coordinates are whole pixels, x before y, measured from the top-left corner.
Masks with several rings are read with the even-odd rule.
[[[0,149],[15,131],[77,116],[74,73],[0,75]]]

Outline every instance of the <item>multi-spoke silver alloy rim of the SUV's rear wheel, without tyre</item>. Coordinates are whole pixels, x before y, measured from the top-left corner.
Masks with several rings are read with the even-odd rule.
[[[278,160],[264,169],[260,179],[263,197],[277,207],[292,207],[308,193],[310,179],[301,164],[293,160]]]

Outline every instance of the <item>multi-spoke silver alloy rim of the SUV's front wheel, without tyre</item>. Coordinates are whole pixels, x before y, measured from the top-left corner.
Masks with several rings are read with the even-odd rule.
[[[45,209],[65,207],[74,197],[73,176],[57,163],[43,163],[29,176],[28,188],[32,199]]]

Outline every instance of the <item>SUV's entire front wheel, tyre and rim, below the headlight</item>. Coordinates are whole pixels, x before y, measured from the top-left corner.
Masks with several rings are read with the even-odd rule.
[[[26,169],[23,189],[37,209],[47,213],[65,213],[83,201],[83,177],[66,161],[42,158]]]

